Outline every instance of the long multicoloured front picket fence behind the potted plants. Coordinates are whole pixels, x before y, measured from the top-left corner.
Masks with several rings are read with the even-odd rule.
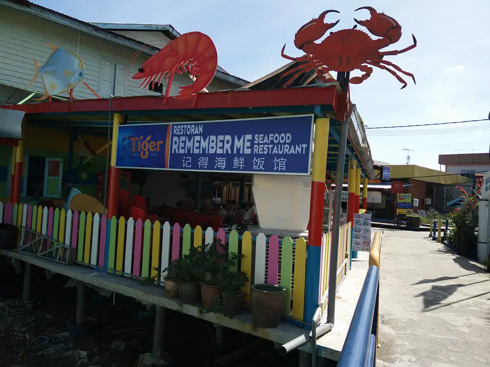
[[[37,205],[0,203],[0,223],[30,228],[75,249],[77,263],[106,271],[116,276],[155,279],[161,284],[163,269],[171,260],[189,252],[191,246],[216,244],[220,239],[230,256],[241,252],[240,269],[249,282],[243,286],[244,302],[250,302],[252,284],[280,284],[286,288],[284,316],[303,322],[306,281],[306,241],[294,242],[276,235],[267,238],[263,233],[253,237],[247,231],[239,235],[232,230],[189,224],[153,224],[124,217],[107,218],[85,213]],[[295,264],[293,266],[293,256]],[[295,289],[292,292],[292,279]],[[292,307],[291,307],[292,303]]]

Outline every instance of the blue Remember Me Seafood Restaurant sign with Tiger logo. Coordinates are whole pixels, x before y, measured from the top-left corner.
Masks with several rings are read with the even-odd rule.
[[[120,125],[116,167],[309,175],[313,115]]]

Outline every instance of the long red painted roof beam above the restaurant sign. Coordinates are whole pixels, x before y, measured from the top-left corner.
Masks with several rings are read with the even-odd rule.
[[[331,105],[336,109],[337,90],[332,87],[281,88],[272,91],[229,91],[199,93],[190,98],[170,97],[167,103],[159,96],[112,98],[111,111],[158,111],[233,109],[251,107],[284,107]],[[109,111],[109,99],[77,99],[71,102],[14,104],[3,108],[26,114],[76,114]]]

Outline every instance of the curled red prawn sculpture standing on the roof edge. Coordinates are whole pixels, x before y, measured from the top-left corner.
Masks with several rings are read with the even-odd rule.
[[[170,87],[175,73],[189,72],[194,81],[191,85],[180,87],[178,96],[190,96],[201,92],[213,80],[218,66],[216,46],[209,36],[201,32],[184,33],[168,43],[150,59],[146,60],[134,80],[142,80],[139,88],[160,85],[163,77],[166,80],[165,100],[170,94]]]

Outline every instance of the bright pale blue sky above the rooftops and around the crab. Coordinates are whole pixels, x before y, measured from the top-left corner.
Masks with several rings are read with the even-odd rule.
[[[400,90],[394,76],[376,69],[361,85],[351,85],[351,99],[367,127],[485,119],[490,111],[490,3],[485,0],[33,2],[84,21],[171,24],[180,33],[201,31],[216,44],[219,65],[248,81],[288,63],[281,57],[284,44],[288,55],[302,56],[293,44],[295,33],[321,12],[340,11],[327,15],[327,22],[340,19],[331,30],[334,32],[352,28],[354,17],[369,18],[366,10],[354,10],[372,6],[402,26],[401,40],[383,51],[411,45],[412,33],[418,40],[415,49],[385,58],[413,73],[417,84],[407,77],[408,86]],[[474,128],[464,129],[471,126]],[[408,148],[413,150],[409,152],[411,164],[434,169],[439,169],[439,154],[456,154],[455,149],[461,154],[472,153],[470,149],[488,152],[490,121],[445,125],[444,130],[454,127],[462,129],[442,134],[440,126],[435,132],[429,127],[413,127],[388,136],[379,135],[381,130],[368,129],[367,139],[374,160],[405,164],[407,152],[402,149]]]

